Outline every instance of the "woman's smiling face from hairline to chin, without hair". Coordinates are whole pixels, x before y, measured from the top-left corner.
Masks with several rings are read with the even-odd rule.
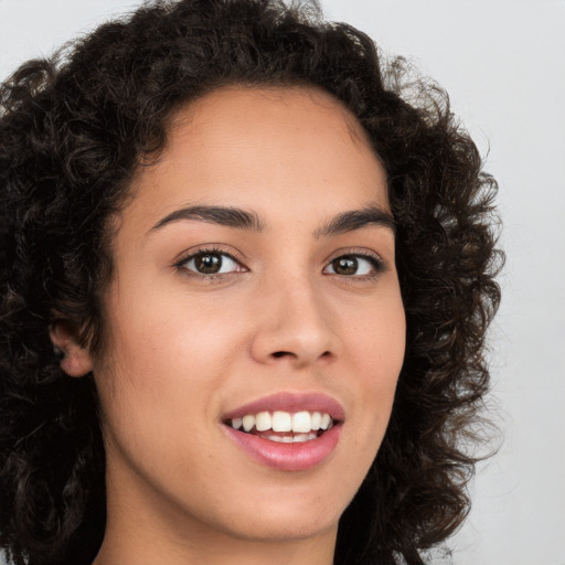
[[[385,173],[361,127],[318,90],[220,89],[178,113],[132,195],[93,359],[109,524],[334,535],[405,342]]]

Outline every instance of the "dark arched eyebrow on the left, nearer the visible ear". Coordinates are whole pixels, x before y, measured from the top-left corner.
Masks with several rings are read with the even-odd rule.
[[[196,220],[210,224],[223,225],[226,227],[238,227],[263,232],[265,225],[254,212],[247,212],[238,207],[230,206],[189,206],[171,212],[149,230],[151,232],[182,220]]]

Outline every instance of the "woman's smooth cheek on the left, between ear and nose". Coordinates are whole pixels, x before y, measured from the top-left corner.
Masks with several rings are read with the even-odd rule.
[[[202,401],[244,348],[242,317],[212,300],[130,290],[108,309],[109,350],[95,374],[102,399],[132,417],[162,413],[174,422],[193,406],[210,406]]]

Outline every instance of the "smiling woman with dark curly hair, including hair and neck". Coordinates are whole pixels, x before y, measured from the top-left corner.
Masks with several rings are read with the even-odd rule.
[[[139,9],[1,90],[17,564],[418,564],[499,302],[446,95],[315,7]]]

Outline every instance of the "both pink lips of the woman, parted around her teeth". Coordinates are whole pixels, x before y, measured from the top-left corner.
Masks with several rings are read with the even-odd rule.
[[[326,412],[333,420],[339,420],[316,439],[296,444],[281,444],[259,436],[236,430],[230,425],[222,429],[248,456],[262,465],[282,471],[303,471],[327,459],[335,449],[343,428],[344,411],[341,404],[320,393],[278,393],[227,412],[222,420],[241,418],[259,412]]]

